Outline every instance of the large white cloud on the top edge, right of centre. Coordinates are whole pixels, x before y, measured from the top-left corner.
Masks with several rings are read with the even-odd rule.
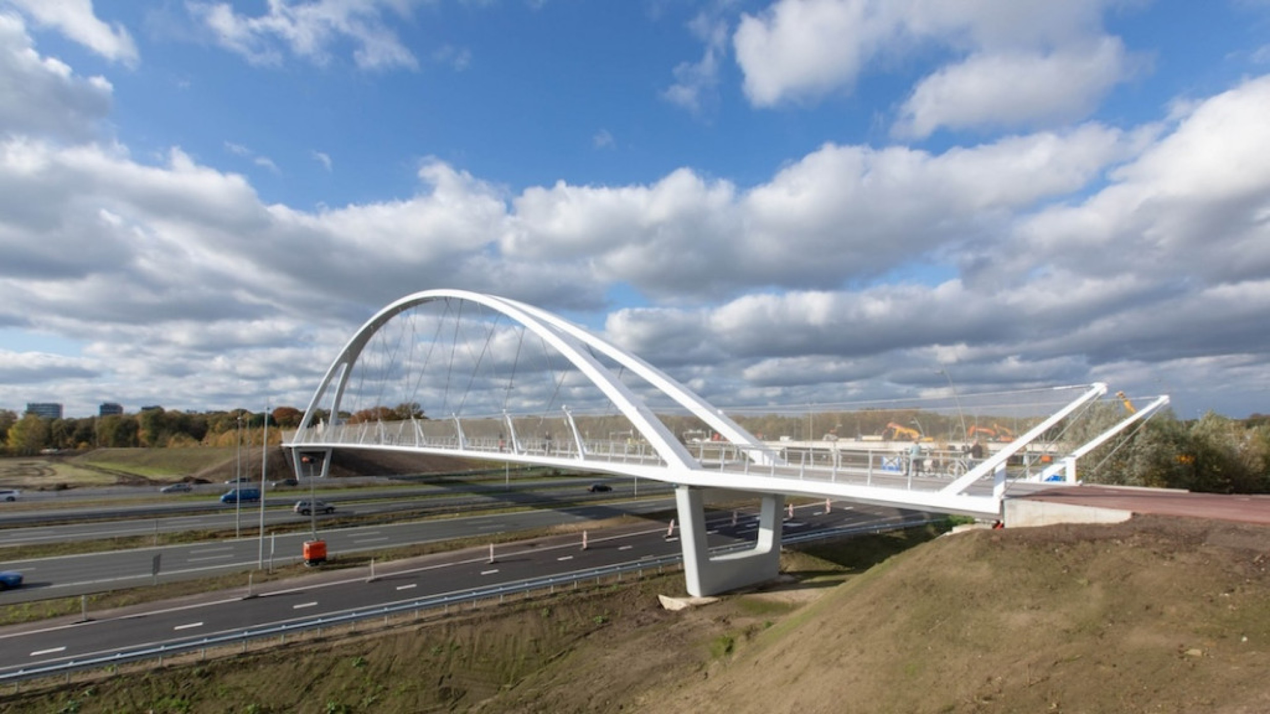
[[[860,75],[941,49],[955,60],[916,86],[897,132],[1030,127],[1087,115],[1140,65],[1102,32],[1115,0],[777,0],[733,37],[757,107],[851,91]]]

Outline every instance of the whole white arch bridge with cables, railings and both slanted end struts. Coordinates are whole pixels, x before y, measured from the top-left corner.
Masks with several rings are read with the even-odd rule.
[[[860,422],[885,413],[904,420],[888,424],[892,439],[904,432],[917,441],[874,434],[839,439],[837,431],[850,429],[843,420],[852,419],[841,411],[765,407],[762,422],[758,412],[730,417],[643,359],[556,315],[507,298],[438,289],[389,304],[353,335],[283,445],[296,473],[302,473],[304,454],[378,449],[674,484],[687,590],[711,595],[777,574],[786,497],[1001,519],[1012,482],[1062,473],[1074,479],[1076,458],[1092,449],[1088,431],[1080,446],[1072,438],[1055,439],[1055,432],[1087,413],[1106,391],[1101,383],[1034,391],[1030,405],[1035,411],[1036,403],[1045,403],[1044,413],[1013,421],[1026,427],[1017,429],[1017,438],[994,425],[993,434],[1012,439],[993,441],[972,462],[965,454],[969,435],[989,427],[968,427],[966,411],[975,420],[980,413],[999,420],[1017,403],[999,394],[975,402],[959,396],[947,378],[947,389],[940,391],[942,413],[871,407],[855,417]],[[1165,402],[1167,397],[1138,410],[1096,439],[1106,440]],[[818,416],[827,430],[822,438]],[[940,422],[950,436],[927,436],[923,419],[927,427]],[[744,421],[799,431],[805,426],[806,439],[763,440],[742,426]],[[330,459],[320,460],[326,476]],[[753,548],[710,553],[705,496],[712,490],[758,498]]]

